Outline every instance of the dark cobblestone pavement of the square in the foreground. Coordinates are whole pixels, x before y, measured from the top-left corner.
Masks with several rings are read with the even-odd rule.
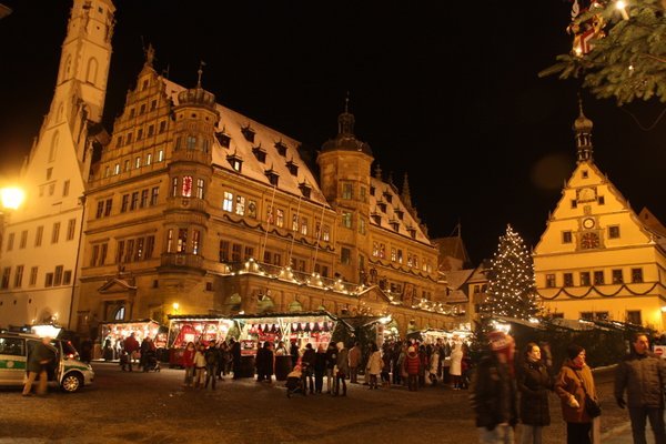
[[[226,379],[215,391],[195,391],[182,387],[182,370],[127,373],[111,363],[93,367],[94,385],[80,393],[52,390],[44,397],[22,397],[20,389],[0,391],[0,444],[477,441],[467,392],[442,385],[413,393],[347,384],[346,397],[287,398],[280,382]],[[612,372],[597,372],[595,380],[604,407],[602,442],[624,443],[618,440],[626,435],[627,414],[612,402]],[[565,427],[554,395],[551,413],[544,444],[563,443]]]

